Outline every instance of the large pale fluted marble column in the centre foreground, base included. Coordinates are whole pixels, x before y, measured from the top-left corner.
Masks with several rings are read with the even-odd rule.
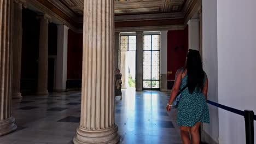
[[[74,143],[118,143],[114,121],[114,1],[84,1],[80,125]]]

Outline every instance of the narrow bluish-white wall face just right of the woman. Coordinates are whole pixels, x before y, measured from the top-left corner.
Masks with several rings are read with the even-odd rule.
[[[208,76],[208,100],[218,103],[218,61],[217,61],[217,0],[202,1],[202,56],[203,67]],[[218,142],[218,108],[208,105],[210,124],[203,124],[203,130]],[[212,143],[211,141],[207,141]]]

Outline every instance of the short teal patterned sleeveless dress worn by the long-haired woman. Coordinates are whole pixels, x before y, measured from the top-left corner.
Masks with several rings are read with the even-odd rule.
[[[180,89],[187,85],[188,75],[181,80]],[[184,89],[179,98],[177,124],[185,127],[193,127],[197,122],[210,123],[210,114],[205,95],[195,88],[192,94],[188,87]]]

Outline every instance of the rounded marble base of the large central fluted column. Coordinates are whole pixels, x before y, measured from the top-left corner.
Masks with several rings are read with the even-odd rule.
[[[77,135],[74,137],[74,144],[117,144],[120,140],[120,135],[118,134],[118,126],[101,130],[101,131],[85,131],[77,128]]]

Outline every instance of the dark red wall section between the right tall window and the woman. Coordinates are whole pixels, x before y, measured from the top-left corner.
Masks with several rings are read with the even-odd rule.
[[[167,80],[174,80],[176,71],[184,67],[188,53],[188,26],[184,30],[168,31]]]

